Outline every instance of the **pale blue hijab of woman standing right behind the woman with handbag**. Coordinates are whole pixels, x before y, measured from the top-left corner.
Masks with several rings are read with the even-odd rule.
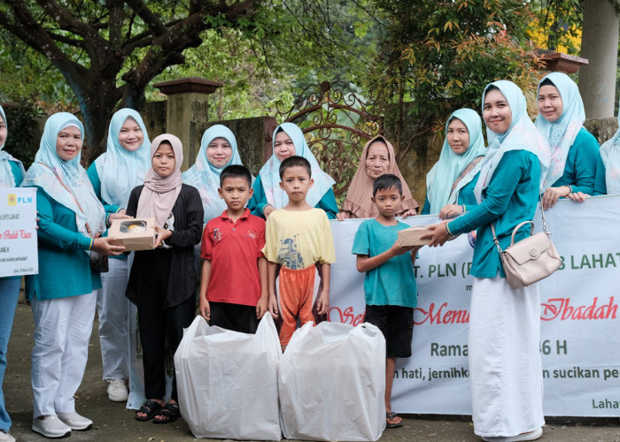
[[[577,133],[584,126],[585,110],[584,102],[579,95],[579,88],[575,81],[562,72],[551,72],[543,77],[540,84],[550,80],[554,83],[562,97],[562,116],[553,123],[548,122],[539,114],[536,118],[536,128],[542,133],[551,149],[551,163],[546,172],[543,190],[554,185],[554,182],[564,174],[566,158],[569,156],[570,146],[575,142]],[[537,92],[538,99],[538,92]]]

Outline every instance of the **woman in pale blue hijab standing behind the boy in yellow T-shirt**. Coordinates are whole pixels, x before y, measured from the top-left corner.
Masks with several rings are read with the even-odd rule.
[[[289,198],[280,188],[280,164],[285,158],[297,155],[306,158],[312,166],[314,186],[308,191],[306,201],[312,207],[325,210],[329,219],[336,218],[338,206],[331,188],[336,181],[321,170],[301,129],[293,123],[283,123],[275,128],[273,140],[274,155],[260,169],[253,185],[254,194],[248,202],[252,215],[267,219],[271,212],[286,205]]]

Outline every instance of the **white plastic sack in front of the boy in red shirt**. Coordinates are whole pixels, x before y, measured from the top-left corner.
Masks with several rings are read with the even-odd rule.
[[[197,316],[174,354],[179,406],[197,438],[280,440],[282,350],[267,312],[255,335]]]

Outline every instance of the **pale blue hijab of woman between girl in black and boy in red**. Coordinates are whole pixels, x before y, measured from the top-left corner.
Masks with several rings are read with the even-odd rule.
[[[209,163],[206,157],[206,149],[211,144],[211,141],[216,138],[223,138],[229,141],[230,148],[232,149],[229,162],[222,167],[215,167]],[[217,189],[220,187],[221,171],[231,164],[242,164],[239,150],[236,149],[235,134],[223,125],[209,127],[203,133],[202,140],[200,141],[200,151],[198,152],[196,163],[182,174],[185,184],[198,189],[205,210],[205,217],[203,219],[205,224],[214,217],[219,217],[221,212],[226,210],[226,202],[220,198]]]

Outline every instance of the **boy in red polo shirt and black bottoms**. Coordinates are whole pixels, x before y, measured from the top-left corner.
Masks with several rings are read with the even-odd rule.
[[[206,224],[201,256],[200,315],[209,324],[254,333],[267,311],[265,221],[250,214],[252,175],[243,165],[221,171],[218,193],[227,210]]]

